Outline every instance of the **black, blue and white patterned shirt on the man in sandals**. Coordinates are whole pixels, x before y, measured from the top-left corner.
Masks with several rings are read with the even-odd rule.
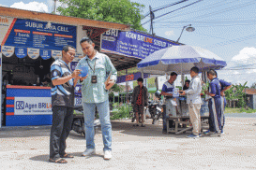
[[[51,78],[63,78],[71,75],[70,68],[63,60],[58,59],[51,65]],[[52,105],[74,106],[74,79],[71,78],[65,84],[53,86],[52,83]]]

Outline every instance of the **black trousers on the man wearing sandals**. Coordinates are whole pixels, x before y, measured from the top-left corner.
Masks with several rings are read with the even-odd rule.
[[[73,121],[74,109],[67,106],[53,106],[53,125],[50,135],[50,158],[60,158],[66,149],[68,138]]]

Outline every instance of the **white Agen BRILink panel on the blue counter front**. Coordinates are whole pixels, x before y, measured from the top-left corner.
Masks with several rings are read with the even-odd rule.
[[[51,97],[15,97],[14,115],[50,115]]]

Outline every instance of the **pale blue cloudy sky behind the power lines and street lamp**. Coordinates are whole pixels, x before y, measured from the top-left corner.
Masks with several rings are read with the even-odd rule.
[[[146,14],[149,6],[157,9],[179,0],[131,1],[143,4],[143,14]],[[0,5],[49,13],[53,11],[53,0],[0,0]],[[251,85],[256,82],[255,7],[256,1],[252,0],[188,0],[156,11],[154,32],[175,41],[183,26],[192,24],[195,31],[184,31],[179,42],[210,50],[224,59],[228,65],[218,71],[219,78],[234,84],[248,81],[248,85]],[[146,21],[149,21],[149,17],[142,23]],[[143,26],[149,30],[149,22]]]

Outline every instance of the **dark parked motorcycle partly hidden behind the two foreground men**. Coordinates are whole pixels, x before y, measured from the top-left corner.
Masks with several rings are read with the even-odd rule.
[[[96,115],[98,115],[98,110],[96,109]],[[96,128],[100,126],[100,121],[98,119],[94,120],[94,131],[96,134]],[[75,131],[80,135],[85,136],[84,130],[84,118],[83,118],[83,106],[74,106],[74,117],[71,126],[71,130]]]

